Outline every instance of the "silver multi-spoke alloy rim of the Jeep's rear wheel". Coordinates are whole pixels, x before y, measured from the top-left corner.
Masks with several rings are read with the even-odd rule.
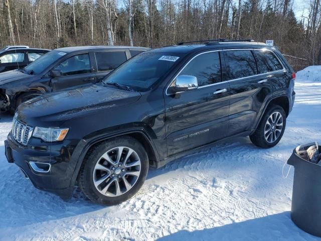
[[[283,129],[283,117],[278,111],[273,112],[266,121],[264,137],[268,143],[275,142],[281,135]]]

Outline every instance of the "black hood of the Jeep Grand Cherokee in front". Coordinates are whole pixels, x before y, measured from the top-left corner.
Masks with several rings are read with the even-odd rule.
[[[140,96],[138,92],[91,85],[30,99],[18,107],[16,114],[18,119],[30,125],[40,119],[45,122],[65,121],[76,115],[91,114],[129,104]]]

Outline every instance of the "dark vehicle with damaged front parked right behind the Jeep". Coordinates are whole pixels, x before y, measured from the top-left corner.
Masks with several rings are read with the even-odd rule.
[[[28,66],[25,64],[18,70],[0,74],[0,111],[14,112],[20,103],[44,93],[97,83],[132,56],[147,50],[126,46],[77,46],[52,50]]]

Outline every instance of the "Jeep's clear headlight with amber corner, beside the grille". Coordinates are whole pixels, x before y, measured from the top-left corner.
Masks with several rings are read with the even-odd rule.
[[[69,131],[69,128],[42,128],[36,127],[33,133],[33,137],[38,137],[45,142],[57,142],[63,141]]]

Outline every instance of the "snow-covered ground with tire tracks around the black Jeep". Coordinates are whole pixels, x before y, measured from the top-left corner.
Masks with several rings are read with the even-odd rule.
[[[142,189],[111,207],[69,202],[37,190],[3,141],[12,117],[0,119],[0,240],[320,240],[290,219],[294,147],[321,142],[321,66],[297,73],[296,101],[281,142],[263,150],[248,138],[217,144],[149,171]]]

